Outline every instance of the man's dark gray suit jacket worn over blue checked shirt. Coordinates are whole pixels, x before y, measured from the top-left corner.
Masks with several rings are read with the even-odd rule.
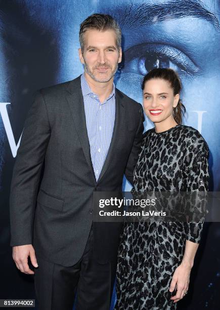
[[[25,121],[10,195],[11,246],[33,244],[36,256],[64,266],[82,256],[93,222],[93,192],[121,190],[133,172],[143,133],[143,108],[116,89],[115,125],[96,181],[80,76],[42,89]],[[119,223],[94,223],[100,263],[117,253]]]

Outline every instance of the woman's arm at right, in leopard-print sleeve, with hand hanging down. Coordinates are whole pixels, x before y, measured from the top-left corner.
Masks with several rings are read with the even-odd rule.
[[[202,197],[202,192],[205,193],[208,190],[208,153],[207,143],[199,132],[195,131],[187,141],[186,155],[184,158],[186,191],[188,193],[200,192],[200,196]],[[190,210],[195,210],[195,214],[192,214],[192,218],[197,217],[196,212],[201,212],[202,214],[202,210],[200,209],[203,204],[202,200],[198,197],[199,195],[188,195],[186,205],[189,206]],[[177,293],[171,297],[173,302],[182,299],[189,287],[190,273],[199,246],[204,222],[204,218],[201,217],[201,214],[197,217],[199,218],[198,220],[186,223],[187,240],[183,260],[177,269],[175,269],[169,289],[170,292],[173,292],[174,289],[177,288]]]

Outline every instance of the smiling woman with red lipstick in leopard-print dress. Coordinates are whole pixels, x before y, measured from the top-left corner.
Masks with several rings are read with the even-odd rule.
[[[144,78],[143,105],[154,128],[143,136],[133,191],[208,190],[208,146],[196,129],[181,125],[181,88],[171,69]],[[187,294],[202,223],[124,223],[115,309],[175,309]]]

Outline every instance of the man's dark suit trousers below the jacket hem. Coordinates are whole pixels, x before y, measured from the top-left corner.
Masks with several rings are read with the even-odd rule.
[[[40,310],[109,309],[117,260],[100,264],[93,257],[93,229],[84,253],[74,266],[64,267],[37,259],[35,291]]]

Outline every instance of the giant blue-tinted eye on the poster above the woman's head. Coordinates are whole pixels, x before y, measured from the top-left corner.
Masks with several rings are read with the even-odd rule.
[[[140,44],[124,52],[120,72],[147,74],[154,68],[171,68],[180,75],[194,76],[199,67],[182,51],[163,44]]]

